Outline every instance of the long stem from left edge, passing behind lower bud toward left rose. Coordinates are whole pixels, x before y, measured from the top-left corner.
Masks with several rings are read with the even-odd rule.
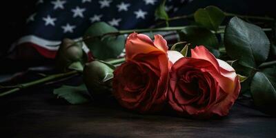
[[[115,64],[118,64],[118,63],[123,63],[124,61],[125,61],[125,58],[113,59],[111,61],[106,61],[106,62],[115,65]],[[48,77],[37,79],[35,81],[30,81],[28,83],[21,83],[17,86],[14,86],[14,87],[17,87],[17,88],[12,88],[11,90],[0,93],[0,97],[9,95],[13,92],[17,92],[17,91],[25,89],[25,88],[29,88],[31,86],[36,86],[40,83],[46,83],[46,82],[57,80],[57,79],[64,79],[66,77],[71,77],[73,75],[78,75],[80,73],[81,72],[78,72],[77,70],[72,70],[72,71],[69,71],[69,72],[63,72],[63,73],[59,73],[59,74],[55,74],[55,75],[49,75]]]

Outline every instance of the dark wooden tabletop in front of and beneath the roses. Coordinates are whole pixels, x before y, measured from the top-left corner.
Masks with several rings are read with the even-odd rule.
[[[139,115],[115,102],[73,106],[48,88],[0,99],[0,137],[276,137],[276,119],[235,104],[208,121]]]

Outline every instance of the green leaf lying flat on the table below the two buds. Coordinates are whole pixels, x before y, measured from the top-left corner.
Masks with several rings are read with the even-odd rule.
[[[81,104],[90,101],[90,95],[84,84],[81,86],[61,86],[53,91],[57,97],[66,99],[71,104]]]

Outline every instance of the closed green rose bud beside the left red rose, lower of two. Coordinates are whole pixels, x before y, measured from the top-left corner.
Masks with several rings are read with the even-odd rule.
[[[111,92],[113,69],[101,61],[86,63],[83,81],[92,96],[106,95]]]

